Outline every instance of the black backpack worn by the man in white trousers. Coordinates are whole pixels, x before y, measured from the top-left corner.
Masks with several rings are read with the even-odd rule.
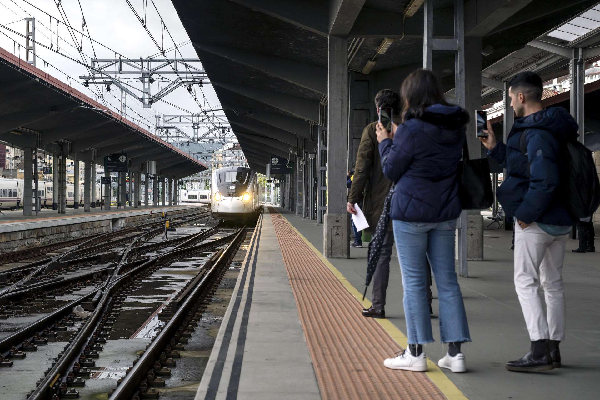
[[[519,148],[524,155],[527,155],[526,137],[526,131],[523,131]],[[559,166],[560,190],[565,195],[566,208],[577,219],[587,218],[600,206],[600,181],[592,152],[577,140],[560,143],[565,143]]]

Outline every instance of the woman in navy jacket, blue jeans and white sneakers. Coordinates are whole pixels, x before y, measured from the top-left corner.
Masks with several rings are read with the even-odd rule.
[[[402,124],[389,133],[377,125],[383,173],[395,184],[390,208],[404,286],[409,348],[383,364],[427,371],[422,345],[433,342],[427,306],[427,260],[439,294],[440,339],[448,353],[441,368],[466,371],[460,347],[470,342],[463,296],[454,272],[454,234],[461,213],[458,163],[463,157],[469,114],[446,103],[430,70],[413,71],[402,83]]]

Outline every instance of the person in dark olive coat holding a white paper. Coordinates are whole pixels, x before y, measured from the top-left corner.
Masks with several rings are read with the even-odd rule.
[[[391,107],[394,115],[400,115],[400,96],[391,89],[383,89],[375,96],[375,108]],[[395,118],[399,122],[399,118]],[[354,177],[348,195],[347,211],[356,214],[354,204],[362,200],[362,212],[367,218],[368,231],[375,233],[379,216],[383,211],[385,197],[388,196],[392,181],[385,178],[381,168],[381,157],[377,149],[377,121],[368,124],[362,131],[361,143],[356,154]],[[362,310],[365,317],[385,318],[385,297],[389,282],[389,260],[392,257],[394,234],[390,229],[383,239],[379,261],[373,275],[372,305]]]

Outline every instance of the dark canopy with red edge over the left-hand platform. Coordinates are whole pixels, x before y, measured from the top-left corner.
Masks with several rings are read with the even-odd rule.
[[[156,173],[183,178],[208,169],[199,160],[153,136],[44,70],[0,49],[0,142],[67,154],[102,165],[125,153],[131,170],[156,161]]]

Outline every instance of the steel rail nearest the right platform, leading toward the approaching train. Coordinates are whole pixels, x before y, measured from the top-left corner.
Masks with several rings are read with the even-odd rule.
[[[196,300],[203,293],[205,288],[211,282],[211,279],[216,272],[223,267],[224,263],[227,263],[229,256],[238,248],[239,243],[244,237],[246,228],[240,228],[236,233],[235,239],[227,246],[227,248],[218,254],[218,259],[212,263],[211,269],[208,270],[202,277],[202,280],[190,291],[189,296],[180,305],[173,317],[170,318],[169,322],[163,327],[163,329],[154,338],[151,344],[146,348],[142,356],[137,360],[131,371],[125,375],[124,380],[117,386],[116,391],[110,396],[111,400],[131,400],[136,392],[139,390],[139,386],[142,381],[148,376],[148,371],[154,367],[154,363],[164,351],[164,348],[169,344],[173,335],[179,329],[182,321],[187,317],[190,309],[196,303]],[[189,251],[189,248],[179,249],[173,251],[184,252]],[[30,398],[31,399],[31,398]],[[32,399],[35,400],[35,399]]]

